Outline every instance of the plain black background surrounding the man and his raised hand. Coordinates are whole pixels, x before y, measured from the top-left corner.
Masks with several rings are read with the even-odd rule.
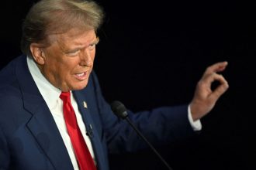
[[[3,1],[1,68],[21,54],[32,0]],[[192,100],[207,66],[227,60],[230,89],[202,118],[199,135],[157,148],[174,170],[256,169],[255,6],[246,1],[98,1],[95,71],[106,100],[150,110]],[[75,24],[75,23],[74,23]],[[165,169],[152,151],[111,155],[111,169]]]

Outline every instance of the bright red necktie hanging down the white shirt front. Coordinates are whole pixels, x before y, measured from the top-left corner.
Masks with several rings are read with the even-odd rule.
[[[67,126],[67,133],[71,138],[74,148],[74,154],[77,158],[80,170],[96,170],[95,163],[92,160],[92,155],[85,144],[81,131],[78,127],[78,121],[74,114],[74,109],[71,105],[71,93],[61,92],[60,96],[63,100],[63,113]]]

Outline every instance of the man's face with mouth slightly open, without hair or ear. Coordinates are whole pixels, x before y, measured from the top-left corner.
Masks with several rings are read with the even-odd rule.
[[[62,91],[81,90],[86,87],[95,59],[95,45],[99,39],[95,31],[71,29],[50,35],[51,45],[41,48],[43,64],[41,72]]]

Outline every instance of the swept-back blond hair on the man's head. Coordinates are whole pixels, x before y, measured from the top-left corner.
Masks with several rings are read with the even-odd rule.
[[[42,42],[47,46],[47,37],[64,33],[72,28],[95,29],[102,25],[104,12],[93,1],[41,0],[30,8],[22,25],[22,53],[32,56],[30,44]]]

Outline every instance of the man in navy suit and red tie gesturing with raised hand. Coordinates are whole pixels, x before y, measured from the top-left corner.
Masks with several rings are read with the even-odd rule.
[[[112,114],[92,71],[102,17],[92,1],[41,0],[30,9],[24,55],[0,73],[1,169],[109,169],[108,153],[147,147]],[[153,145],[192,135],[228,88],[217,73],[226,66],[206,69],[189,105],[130,113],[130,119]]]

